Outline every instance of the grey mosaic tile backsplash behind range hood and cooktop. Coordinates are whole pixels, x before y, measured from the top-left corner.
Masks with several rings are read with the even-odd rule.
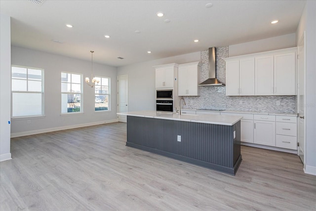
[[[226,82],[228,46],[217,48],[217,78]],[[201,51],[200,82],[208,79],[208,49]],[[296,96],[226,96],[226,86],[200,86],[200,96],[184,97],[186,109],[216,108],[237,111],[269,111],[296,113]],[[279,101],[279,105],[277,102]]]

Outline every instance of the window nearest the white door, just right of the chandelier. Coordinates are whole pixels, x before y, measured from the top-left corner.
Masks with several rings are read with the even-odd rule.
[[[99,84],[94,86],[94,110],[110,111],[110,78],[96,77]]]

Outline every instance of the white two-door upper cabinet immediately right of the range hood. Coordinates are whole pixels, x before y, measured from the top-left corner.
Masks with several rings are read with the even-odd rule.
[[[226,62],[226,95],[254,95],[254,57]]]

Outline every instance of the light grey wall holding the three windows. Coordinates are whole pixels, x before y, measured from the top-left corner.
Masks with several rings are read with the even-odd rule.
[[[12,119],[11,137],[53,131],[63,128],[100,124],[117,120],[117,72],[116,67],[93,63],[96,76],[111,78],[111,111],[94,111],[94,88],[83,82],[83,114],[61,115],[61,72],[72,72],[91,77],[91,60],[83,61],[22,47],[11,47],[12,65],[44,69],[44,118]],[[87,50],[87,59],[91,53]],[[6,80],[10,80],[7,78]],[[2,94],[2,92],[1,92]],[[31,124],[27,121],[31,120]]]

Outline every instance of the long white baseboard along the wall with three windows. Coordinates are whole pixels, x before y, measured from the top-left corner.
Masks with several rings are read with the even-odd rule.
[[[15,133],[11,133],[11,138],[25,136],[25,135],[34,135],[34,134],[39,134],[39,133],[44,133],[44,132],[52,132],[52,131],[63,130],[63,129],[72,129],[72,128],[78,128],[78,127],[95,126],[95,125],[102,125],[102,124],[116,123],[116,122],[118,122],[118,120],[114,119],[114,120],[106,120],[106,121],[94,122],[94,123],[85,123],[85,124],[80,124],[80,125],[71,125],[71,126],[63,126],[63,127],[52,127],[52,128],[31,130],[31,131],[25,131],[25,132],[15,132]]]

